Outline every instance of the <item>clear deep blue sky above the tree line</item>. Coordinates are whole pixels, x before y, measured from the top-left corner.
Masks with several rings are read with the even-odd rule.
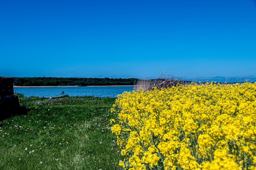
[[[256,77],[255,0],[9,0],[0,16],[0,76]]]

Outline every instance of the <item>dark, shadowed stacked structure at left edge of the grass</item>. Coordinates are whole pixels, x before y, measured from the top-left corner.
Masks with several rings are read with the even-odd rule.
[[[0,120],[10,117],[19,107],[19,99],[13,92],[13,77],[0,77]]]

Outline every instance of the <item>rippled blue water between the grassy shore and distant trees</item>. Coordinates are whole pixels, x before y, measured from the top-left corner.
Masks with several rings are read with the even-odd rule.
[[[61,91],[65,95],[94,96],[94,97],[117,97],[124,91],[132,91],[134,86],[96,86],[96,87],[15,87],[14,93],[21,93],[24,97],[57,97]]]

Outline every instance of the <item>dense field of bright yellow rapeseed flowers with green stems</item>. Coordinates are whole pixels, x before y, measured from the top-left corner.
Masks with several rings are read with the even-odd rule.
[[[256,169],[256,84],[125,92],[111,112],[124,169]]]

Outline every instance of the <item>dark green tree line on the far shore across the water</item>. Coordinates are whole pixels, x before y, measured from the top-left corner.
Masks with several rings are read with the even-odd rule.
[[[120,86],[134,85],[139,79],[129,78],[63,78],[63,77],[14,77],[14,86]]]

